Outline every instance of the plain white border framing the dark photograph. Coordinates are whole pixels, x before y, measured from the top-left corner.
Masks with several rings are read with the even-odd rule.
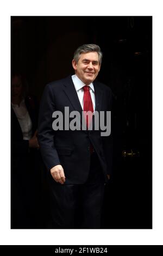
[[[63,3],[64,2],[64,3]],[[162,245],[162,7],[161,1],[1,1],[2,245]],[[10,15],[153,16],[153,229],[10,230]],[[88,26],[88,25],[86,25]],[[8,120],[8,121],[7,121]],[[139,175],[139,170],[137,172]]]

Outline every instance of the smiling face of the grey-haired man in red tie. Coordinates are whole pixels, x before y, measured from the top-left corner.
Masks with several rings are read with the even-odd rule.
[[[72,66],[76,71],[76,75],[86,85],[92,83],[100,70],[98,53],[87,52],[81,53],[78,63],[72,60]]]

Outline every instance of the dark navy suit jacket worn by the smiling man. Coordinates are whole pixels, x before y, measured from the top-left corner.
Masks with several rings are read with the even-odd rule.
[[[96,111],[111,111],[111,90],[99,82],[95,87]],[[89,175],[90,143],[95,149],[105,175],[111,173],[112,138],[101,137],[101,131],[58,130],[54,131],[52,123],[54,111],[64,115],[65,107],[78,111],[82,116],[76,89],[71,76],[47,84],[42,96],[39,113],[39,144],[43,161],[48,170],[61,164],[64,168],[65,184],[83,184]],[[54,181],[55,182],[55,181]],[[57,184],[57,182],[55,182]]]

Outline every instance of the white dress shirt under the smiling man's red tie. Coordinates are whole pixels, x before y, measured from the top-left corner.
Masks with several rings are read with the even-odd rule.
[[[78,78],[77,75],[73,75],[72,76],[72,81],[74,84],[74,87],[76,88],[77,94],[78,94],[78,98],[80,101],[80,104],[82,106],[83,109],[83,97],[84,97],[84,90],[83,87],[85,86],[85,84]],[[93,110],[95,111],[95,89],[92,83],[89,84],[90,87],[90,94],[91,94],[91,99],[92,99],[92,104],[93,104]]]

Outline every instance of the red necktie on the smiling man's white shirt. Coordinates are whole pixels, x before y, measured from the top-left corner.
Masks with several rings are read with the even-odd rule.
[[[90,87],[89,86],[84,86],[83,87],[84,90],[84,106],[83,106],[83,111],[91,111],[90,114],[85,116],[86,119],[86,127],[88,129],[88,127],[90,126],[90,123],[92,121],[92,115],[93,115],[93,104],[92,104],[92,99],[91,99],[91,94],[90,94]]]

